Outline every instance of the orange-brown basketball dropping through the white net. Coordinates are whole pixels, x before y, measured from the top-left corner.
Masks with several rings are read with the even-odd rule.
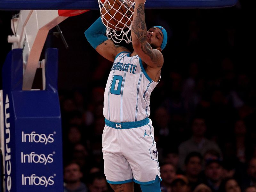
[[[129,0],[106,0],[101,10],[102,21],[114,30],[125,29],[132,23],[133,11]]]

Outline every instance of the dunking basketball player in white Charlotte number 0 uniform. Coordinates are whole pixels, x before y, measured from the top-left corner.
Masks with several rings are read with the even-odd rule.
[[[100,18],[85,31],[92,47],[113,61],[104,95],[104,173],[115,192],[133,192],[133,182],[143,192],[161,192],[154,128],[148,116],[150,93],[164,63],[161,51],[167,33],[161,26],[147,31],[145,1],[134,1],[132,53],[104,36],[106,27]]]

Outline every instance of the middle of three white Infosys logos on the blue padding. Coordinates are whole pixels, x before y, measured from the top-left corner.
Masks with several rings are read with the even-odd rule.
[[[55,151],[53,151],[55,154]],[[31,152],[30,154],[24,154],[21,152],[21,163],[42,163],[46,165],[47,163],[53,162],[53,154],[45,155],[45,154],[36,154],[35,152]]]

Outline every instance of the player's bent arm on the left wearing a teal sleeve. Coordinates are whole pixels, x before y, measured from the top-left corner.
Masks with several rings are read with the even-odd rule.
[[[106,36],[106,27],[98,18],[85,32],[84,35],[92,47],[104,58],[114,61],[117,53],[129,50],[122,46],[117,46]]]

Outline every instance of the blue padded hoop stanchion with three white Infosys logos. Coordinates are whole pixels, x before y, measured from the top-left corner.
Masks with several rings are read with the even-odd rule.
[[[5,191],[63,191],[58,50],[46,51],[46,90],[22,91],[22,50],[3,65]]]

